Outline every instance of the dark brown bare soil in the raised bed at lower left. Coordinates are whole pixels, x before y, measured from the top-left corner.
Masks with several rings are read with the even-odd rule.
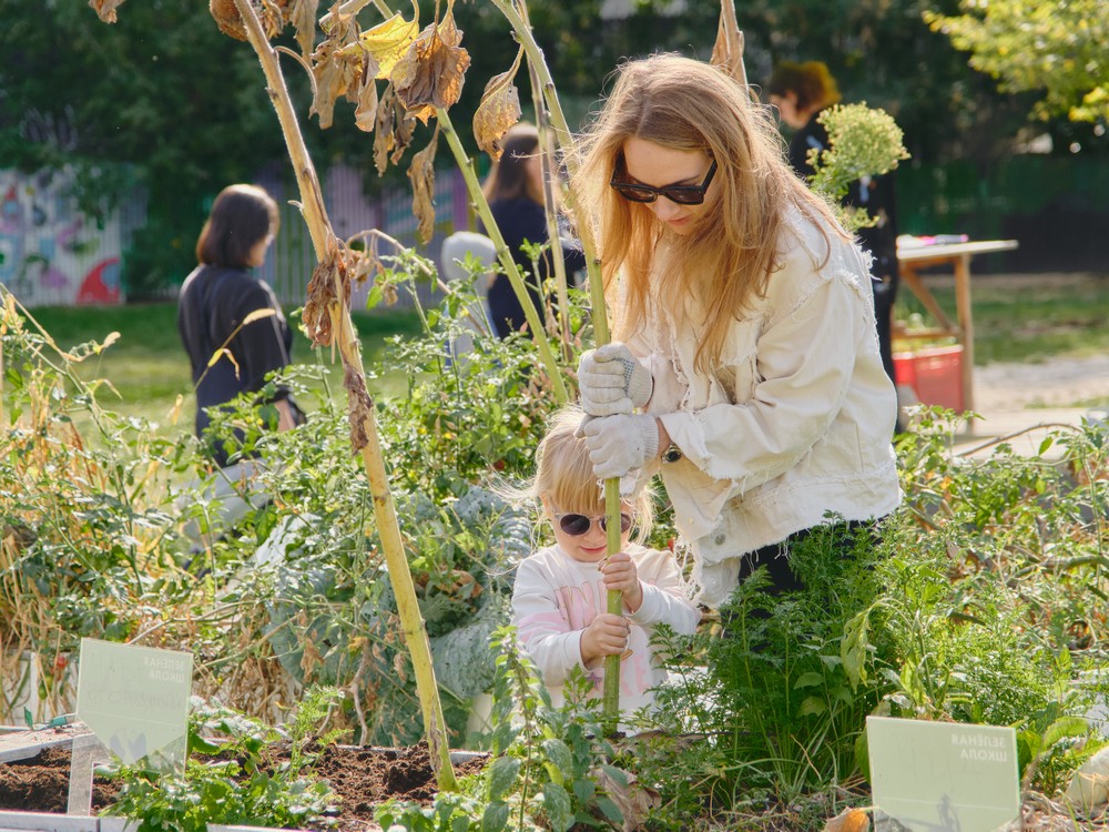
[[[472,773],[485,765],[476,759],[455,767],[456,774]],[[70,751],[45,749],[35,757],[0,763],[0,809],[21,812],[65,813],[69,799]],[[339,829],[363,832],[379,829],[374,808],[390,799],[430,803],[436,794],[435,772],[426,747],[369,749],[330,745],[321,755],[316,772],[342,798]],[[112,802],[119,787],[96,777],[93,813]]]

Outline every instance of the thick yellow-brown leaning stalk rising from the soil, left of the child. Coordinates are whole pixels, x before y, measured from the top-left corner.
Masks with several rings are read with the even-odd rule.
[[[326,262],[337,246],[337,239],[332,230],[330,221],[324,207],[323,192],[319,187],[319,180],[316,176],[315,166],[308,155],[296,122],[296,113],[288,95],[277,63],[277,55],[269,48],[269,42],[265,37],[262,24],[254,12],[248,0],[235,0],[238,13],[246,26],[247,37],[251,45],[262,62],[267,81],[267,92],[277,111],[285,143],[288,148],[289,159],[293,162],[293,170],[296,174],[297,185],[301,192],[301,211],[308,225],[308,233],[315,248],[316,260]],[[335,275],[338,282],[338,273]],[[365,387],[365,371],[362,365],[359,342],[350,319],[350,310],[343,302],[343,287],[336,285],[336,302],[332,308],[333,325],[335,327],[335,342],[343,357],[344,367],[348,373],[358,373],[363,377]],[[353,413],[353,410],[352,410]],[[420,616],[419,603],[416,599],[416,589],[413,584],[411,570],[405,556],[404,542],[400,537],[400,527],[397,522],[396,507],[393,504],[393,495],[389,491],[388,475],[385,469],[385,457],[381,454],[381,445],[378,437],[375,408],[370,400],[369,406],[364,408],[363,428],[366,435],[366,446],[362,448],[363,465],[369,480],[370,494],[374,498],[374,514],[377,518],[378,532],[381,537],[381,547],[385,551],[385,559],[389,570],[389,578],[393,581],[393,589],[397,600],[397,611],[400,616],[401,629],[405,636],[405,643],[411,655],[413,669],[416,674],[416,689],[420,700],[420,710],[424,716],[424,730],[427,735],[431,764],[436,767],[436,781],[440,791],[457,791],[458,782],[450,764],[450,751],[447,742],[446,721],[442,717],[442,706],[439,701],[438,686],[435,681],[435,668],[431,664],[431,648],[427,638],[427,629]]]

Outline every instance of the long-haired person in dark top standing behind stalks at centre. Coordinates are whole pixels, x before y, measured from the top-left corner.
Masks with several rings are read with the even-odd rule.
[[[539,162],[539,131],[530,124],[517,124],[506,133],[503,146],[505,152],[489,171],[484,191],[494,220],[505,237],[505,244],[525,276],[531,302],[542,319],[547,304],[541,286],[554,274],[551,252],[543,253],[539,260],[539,274],[536,275],[532,274],[536,270],[531,258],[521,248],[525,242],[542,244],[548,240],[542,168]],[[576,285],[573,273],[586,267],[581,248],[571,241],[560,240],[556,250],[566,264],[567,281],[570,285]],[[527,325],[523,307],[506,275],[496,276],[489,287],[488,301],[492,324],[499,337],[520,332]]]

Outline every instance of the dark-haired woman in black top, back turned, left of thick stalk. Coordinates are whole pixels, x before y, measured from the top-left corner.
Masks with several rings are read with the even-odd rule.
[[[289,364],[293,333],[273,290],[251,273],[265,262],[277,225],[277,203],[269,194],[254,185],[228,185],[216,196],[196,241],[200,265],[181,286],[177,329],[192,365],[201,438],[211,423],[210,408],[262,390],[267,373]],[[247,322],[258,312],[263,314]],[[278,430],[301,422],[286,388],[277,387],[271,403]],[[227,447],[211,444],[210,453],[220,467],[228,465]]]

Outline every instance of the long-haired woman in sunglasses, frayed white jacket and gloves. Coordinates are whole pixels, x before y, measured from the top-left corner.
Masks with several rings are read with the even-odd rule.
[[[760,566],[797,588],[791,545],[901,499],[867,260],[705,63],[623,64],[579,153],[615,338],[579,365],[594,475],[661,470],[703,603]]]

